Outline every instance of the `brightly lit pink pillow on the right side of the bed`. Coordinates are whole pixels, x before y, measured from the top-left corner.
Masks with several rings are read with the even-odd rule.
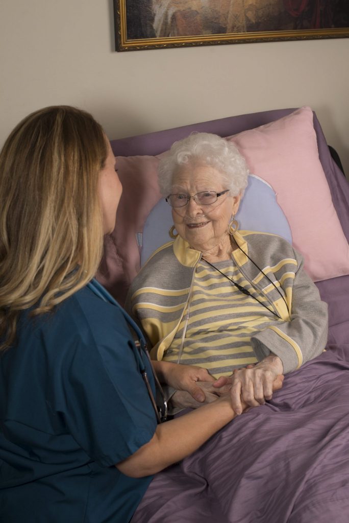
[[[273,187],[311,278],[349,274],[349,246],[319,160],[310,107],[227,140],[238,146],[250,172]]]

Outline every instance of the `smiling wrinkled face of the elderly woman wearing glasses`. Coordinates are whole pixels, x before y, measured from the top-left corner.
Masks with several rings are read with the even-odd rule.
[[[197,192],[222,192],[226,189],[216,168],[189,163],[180,166],[173,175],[171,193],[193,196]],[[228,225],[239,208],[239,202],[240,196],[231,196],[229,192],[210,205],[197,204],[191,198],[185,207],[172,208],[173,222],[183,240],[197,251],[210,252],[216,247],[229,251]]]

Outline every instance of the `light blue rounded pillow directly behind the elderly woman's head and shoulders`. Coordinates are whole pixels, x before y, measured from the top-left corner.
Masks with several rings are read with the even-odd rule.
[[[292,243],[292,234],[283,210],[276,201],[273,188],[258,176],[249,175],[248,185],[236,214],[239,229],[278,234]],[[171,207],[161,199],[150,211],[144,224],[141,266],[157,248],[171,241],[168,230],[173,225]]]

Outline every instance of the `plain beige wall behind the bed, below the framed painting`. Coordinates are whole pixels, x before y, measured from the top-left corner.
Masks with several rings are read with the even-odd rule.
[[[1,0],[0,144],[50,104],[110,138],[310,105],[349,173],[349,39],[114,52],[109,0]]]

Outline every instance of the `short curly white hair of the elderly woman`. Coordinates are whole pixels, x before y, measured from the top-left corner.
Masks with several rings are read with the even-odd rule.
[[[231,196],[243,195],[249,170],[237,146],[217,134],[193,132],[187,138],[173,143],[167,154],[160,159],[158,182],[163,196],[171,193],[172,179],[177,168],[192,162],[214,167],[222,175],[223,183],[230,190]]]

